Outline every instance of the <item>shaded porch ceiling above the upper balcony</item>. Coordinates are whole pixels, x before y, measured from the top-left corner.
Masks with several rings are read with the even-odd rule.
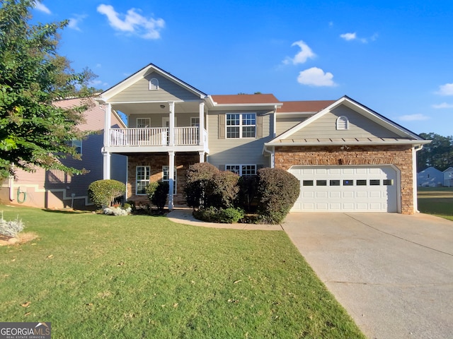
[[[164,105],[164,108],[161,108]],[[133,102],[113,104],[112,108],[126,115],[129,114],[170,114],[168,102]],[[198,113],[199,102],[175,102],[175,113]]]

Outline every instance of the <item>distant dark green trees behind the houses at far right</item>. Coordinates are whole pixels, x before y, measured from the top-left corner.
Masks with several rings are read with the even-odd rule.
[[[417,172],[430,166],[444,171],[453,165],[453,136],[436,133],[420,133],[420,136],[432,141],[417,152]]]

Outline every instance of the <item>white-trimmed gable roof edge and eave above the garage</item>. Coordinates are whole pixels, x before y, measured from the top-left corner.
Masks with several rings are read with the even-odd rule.
[[[285,104],[284,104],[285,105]],[[304,129],[309,124],[313,123],[317,119],[320,119],[328,112],[331,112],[336,107],[340,105],[345,105],[346,107],[352,109],[358,114],[362,114],[367,119],[374,121],[376,124],[388,129],[389,131],[396,134],[395,138],[328,138],[326,136],[321,136],[321,138],[292,138],[294,133]],[[302,121],[300,124],[297,124],[292,129],[280,134],[277,138],[274,138],[272,141],[265,143],[266,146],[281,146],[281,145],[394,145],[394,144],[409,144],[409,145],[423,145],[425,143],[430,143],[418,136],[418,134],[405,129],[403,126],[396,124],[394,121],[387,119],[381,114],[374,112],[372,109],[360,104],[359,102],[352,100],[348,96],[343,96],[340,99],[333,102],[328,107],[321,109],[318,113],[314,114],[312,117]]]

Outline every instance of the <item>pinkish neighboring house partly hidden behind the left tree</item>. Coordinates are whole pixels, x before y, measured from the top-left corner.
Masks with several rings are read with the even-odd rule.
[[[60,159],[64,165],[78,169],[88,169],[87,174],[75,175],[61,170],[36,169],[36,172],[17,171],[17,180],[6,180],[0,188],[1,201],[21,203],[23,206],[38,208],[85,208],[93,205],[88,199],[88,185],[96,180],[103,179],[103,129],[105,127],[105,112],[98,102],[91,100],[93,107],[84,112],[85,122],[79,125],[81,131],[97,131],[85,140],[72,141],[79,153],[81,160],[72,158]],[[62,100],[55,105],[59,107],[74,107],[80,105],[80,99]],[[109,114],[109,126],[115,129],[124,129],[125,124],[112,111]],[[113,155],[111,178],[125,182],[126,158]]]

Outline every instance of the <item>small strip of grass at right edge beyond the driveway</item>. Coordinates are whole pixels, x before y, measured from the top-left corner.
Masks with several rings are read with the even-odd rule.
[[[453,220],[453,187],[418,187],[418,210]]]

